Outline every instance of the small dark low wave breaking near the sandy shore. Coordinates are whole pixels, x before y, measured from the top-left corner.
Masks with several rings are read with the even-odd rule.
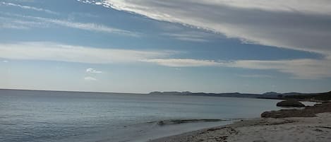
[[[162,120],[157,122],[160,126],[167,124],[185,124],[185,123],[195,123],[195,122],[221,122],[225,121],[224,119],[170,119]]]

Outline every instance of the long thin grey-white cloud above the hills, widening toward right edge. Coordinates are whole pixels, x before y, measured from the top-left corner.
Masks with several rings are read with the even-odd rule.
[[[149,63],[170,67],[223,66],[242,69],[276,70],[290,73],[294,78],[317,79],[331,77],[331,59],[294,59],[279,61],[236,60],[214,61],[199,59],[145,59]],[[254,76],[258,77],[258,76]],[[259,76],[261,77],[261,76]],[[266,77],[266,76],[264,76]]]

